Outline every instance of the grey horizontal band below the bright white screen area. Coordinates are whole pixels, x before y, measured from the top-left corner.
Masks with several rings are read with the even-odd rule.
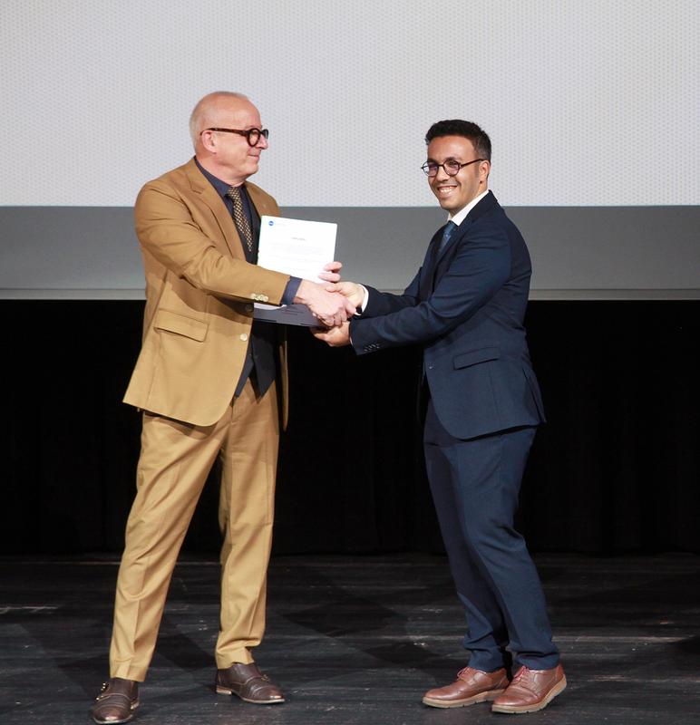
[[[532,299],[700,298],[700,207],[514,207],[532,256]],[[343,275],[403,290],[440,208],[289,207],[338,225]],[[131,208],[0,207],[0,297],[140,299]]]

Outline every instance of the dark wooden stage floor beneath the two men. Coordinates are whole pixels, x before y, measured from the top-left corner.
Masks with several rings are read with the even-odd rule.
[[[700,723],[700,556],[537,556],[569,688],[530,725]],[[113,560],[0,559],[0,722],[89,723],[107,676]],[[494,723],[486,704],[435,710],[423,691],[464,665],[440,556],[285,556],[269,576],[257,659],[287,703],[217,696],[218,565],[177,568],[142,725]]]

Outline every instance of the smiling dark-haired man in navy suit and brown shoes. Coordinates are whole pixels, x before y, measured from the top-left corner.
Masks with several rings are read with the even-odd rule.
[[[403,295],[334,285],[362,312],[316,337],[352,344],[357,354],[423,346],[426,468],[471,652],[457,680],[426,692],[423,702],[492,701],[496,712],[533,712],[564,690],[566,678],[540,579],[513,527],[544,420],[523,327],[530,255],[488,190],[486,133],[470,121],[439,121],[425,140],[423,171],[447,224]]]

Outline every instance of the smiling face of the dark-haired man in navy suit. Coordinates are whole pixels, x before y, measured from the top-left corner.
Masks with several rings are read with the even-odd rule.
[[[439,136],[428,144],[428,161],[438,164],[446,160],[463,164],[478,158],[472,141],[464,136]],[[489,161],[479,161],[462,167],[456,176],[448,176],[441,167],[428,183],[440,206],[454,216],[488,189],[489,169]]]

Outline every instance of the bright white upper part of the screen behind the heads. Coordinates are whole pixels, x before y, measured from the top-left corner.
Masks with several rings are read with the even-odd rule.
[[[3,0],[0,204],[130,206],[228,89],[286,206],[433,205],[451,117],[491,134],[506,205],[695,205],[698,37],[697,0]]]

